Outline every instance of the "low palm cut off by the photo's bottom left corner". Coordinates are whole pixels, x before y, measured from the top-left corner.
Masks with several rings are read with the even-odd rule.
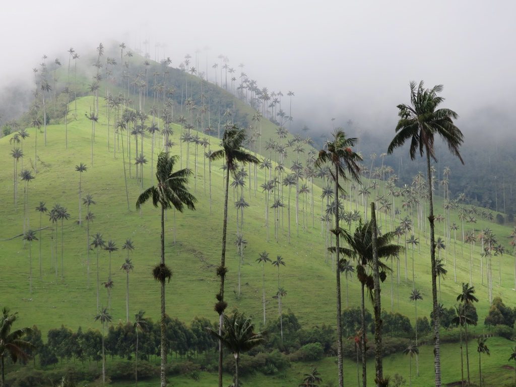
[[[5,384],[5,358],[10,357],[13,363],[18,359],[26,361],[29,358],[27,350],[32,349],[33,345],[24,336],[31,333],[30,328],[21,328],[13,330],[12,326],[18,319],[18,312],[9,314],[9,309],[3,308],[0,315],[0,365],[2,368],[2,383]]]

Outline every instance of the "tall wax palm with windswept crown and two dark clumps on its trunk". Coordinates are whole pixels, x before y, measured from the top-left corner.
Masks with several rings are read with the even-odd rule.
[[[228,193],[229,193],[229,174],[230,171],[236,170],[236,163],[241,164],[258,164],[259,160],[241,149],[242,144],[246,139],[246,132],[243,129],[239,129],[235,125],[224,131],[222,136],[222,149],[217,150],[211,154],[210,160],[224,159],[226,167],[225,176],[225,187],[224,187],[224,218],[222,221],[222,254],[220,259],[220,266],[217,268],[217,276],[220,277],[220,290],[217,294],[217,303],[215,304],[215,310],[219,314],[219,335],[222,335],[222,317],[224,310],[227,307],[227,303],[224,301],[224,280],[226,273],[228,272],[225,267],[225,250],[226,250],[226,237],[228,230]],[[218,386],[222,387],[222,341],[219,340],[219,377]]]

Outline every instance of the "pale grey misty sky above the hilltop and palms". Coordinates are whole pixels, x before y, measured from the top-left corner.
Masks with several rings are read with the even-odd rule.
[[[337,125],[352,119],[392,130],[412,79],[443,84],[445,106],[464,122],[489,123],[487,112],[506,116],[506,125],[514,117],[515,11],[513,1],[10,1],[2,6],[0,86],[31,82],[43,54],[65,61],[70,47],[91,53],[99,42],[125,41],[135,49],[148,38],[174,67],[200,50],[211,78],[219,54],[237,71],[244,63],[259,87],[293,90],[294,118],[314,129],[335,117]]]

